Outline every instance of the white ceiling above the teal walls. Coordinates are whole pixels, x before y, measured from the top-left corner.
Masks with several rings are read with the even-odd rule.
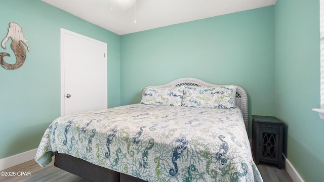
[[[118,4],[118,1],[123,0],[42,1],[118,35],[124,35],[271,6],[277,0],[137,0],[136,9],[132,6],[127,10]]]

